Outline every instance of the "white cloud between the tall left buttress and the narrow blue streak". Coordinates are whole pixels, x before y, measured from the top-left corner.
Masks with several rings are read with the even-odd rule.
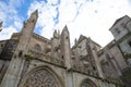
[[[38,9],[38,22],[36,24],[37,26],[41,27],[40,35],[49,38],[52,36],[52,28],[55,25],[53,17],[56,16],[56,8],[51,7],[50,4],[46,4],[46,2],[40,1],[34,1],[31,4],[31,8],[28,10],[28,16],[33,11]]]

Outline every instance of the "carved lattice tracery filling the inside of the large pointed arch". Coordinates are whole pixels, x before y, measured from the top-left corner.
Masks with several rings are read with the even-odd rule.
[[[61,87],[55,76],[47,70],[37,70],[32,73],[23,86],[20,87]]]

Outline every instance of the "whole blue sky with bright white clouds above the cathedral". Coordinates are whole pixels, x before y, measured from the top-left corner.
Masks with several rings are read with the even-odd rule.
[[[109,28],[115,21],[131,16],[131,0],[0,0],[0,40],[21,32],[23,21],[36,9],[36,34],[50,38],[55,29],[61,32],[67,25],[71,45],[84,35],[104,47],[114,39]]]

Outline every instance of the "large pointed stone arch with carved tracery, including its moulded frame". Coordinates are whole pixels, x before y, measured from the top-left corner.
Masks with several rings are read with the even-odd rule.
[[[63,84],[48,66],[38,66],[23,77],[20,87],[63,87]]]

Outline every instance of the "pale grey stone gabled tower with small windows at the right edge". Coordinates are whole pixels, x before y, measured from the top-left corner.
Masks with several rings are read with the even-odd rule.
[[[116,45],[121,50],[127,62],[131,64],[131,18],[126,15],[116,21],[110,28],[115,37]]]

